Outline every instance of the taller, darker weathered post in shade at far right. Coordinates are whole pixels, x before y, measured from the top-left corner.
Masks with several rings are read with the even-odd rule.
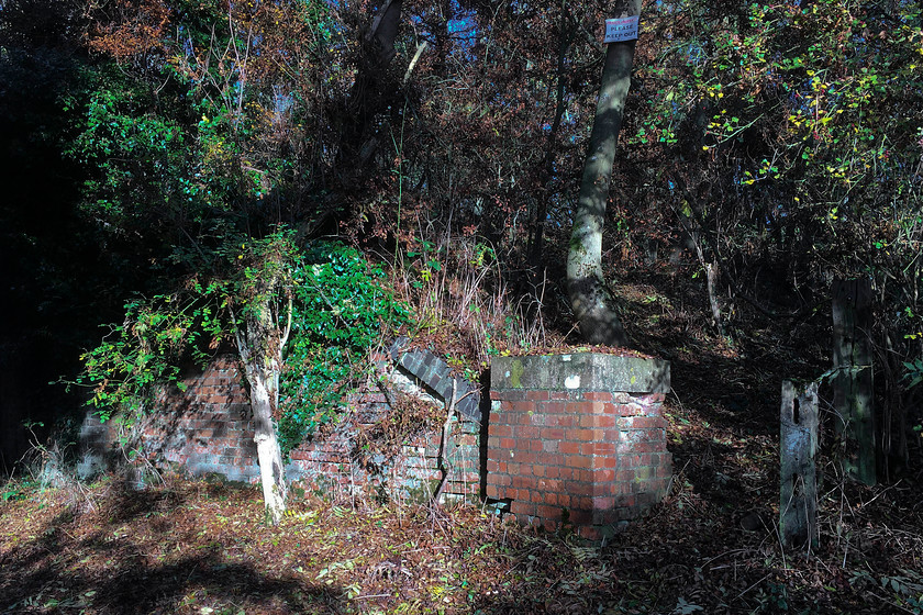
[[[843,440],[846,474],[876,483],[875,415],[871,370],[871,282],[837,280],[833,284],[833,405]]]

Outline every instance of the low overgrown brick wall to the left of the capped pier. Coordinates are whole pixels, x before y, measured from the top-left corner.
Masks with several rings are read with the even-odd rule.
[[[378,359],[385,361],[387,356]],[[436,360],[427,358],[425,362],[432,376]],[[215,474],[226,480],[258,482],[254,423],[237,362],[232,357],[219,357],[203,373],[187,378],[184,383],[185,391],[173,387],[158,395],[155,411],[135,427],[134,436],[143,455],[157,467],[173,465],[197,477]],[[429,497],[442,478],[442,425],[414,434],[393,455],[359,450],[358,433],[383,420],[390,407],[385,393],[377,389],[351,394],[344,402],[342,421],[329,434],[291,451],[286,468],[289,481],[334,496]],[[479,414],[472,417],[457,413],[453,417],[445,451],[452,471],[444,501],[478,500],[479,434]],[[90,474],[111,462],[118,440],[115,424],[101,424],[88,414],[81,429],[81,473]]]

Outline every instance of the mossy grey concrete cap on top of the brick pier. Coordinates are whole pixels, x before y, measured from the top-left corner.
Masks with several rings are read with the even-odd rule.
[[[490,388],[666,394],[670,391],[670,364],[586,351],[493,357]]]

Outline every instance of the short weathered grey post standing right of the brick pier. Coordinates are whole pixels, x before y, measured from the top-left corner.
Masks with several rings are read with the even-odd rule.
[[[782,381],[779,533],[788,547],[811,548],[818,536],[818,383]]]

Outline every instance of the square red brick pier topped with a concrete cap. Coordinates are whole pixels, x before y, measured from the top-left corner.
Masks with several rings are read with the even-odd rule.
[[[665,361],[592,353],[491,366],[487,495],[527,524],[598,539],[667,492]]]

